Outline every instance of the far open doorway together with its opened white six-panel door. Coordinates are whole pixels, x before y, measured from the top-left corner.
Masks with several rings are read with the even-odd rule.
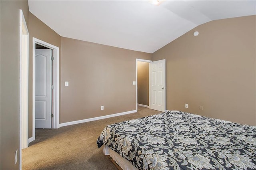
[[[138,68],[140,66],[144,68]],[[165,59],[158,61],[136,59],[136,111],[138,111],[138,105],[157,111],[166,111],[165,71]],[[144,104],[141,104],[142,102]]]

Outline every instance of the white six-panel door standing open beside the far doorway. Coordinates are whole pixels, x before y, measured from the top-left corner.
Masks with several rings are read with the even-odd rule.
[[[150,109],[165,112],[165,59],[150,63]]]

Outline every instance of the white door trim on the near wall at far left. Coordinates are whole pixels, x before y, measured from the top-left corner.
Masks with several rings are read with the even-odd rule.
[[[28,147],[28,36],[26,20],[20,10],[20,169],[22,149]]]

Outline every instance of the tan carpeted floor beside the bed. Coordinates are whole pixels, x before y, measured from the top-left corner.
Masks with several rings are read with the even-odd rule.
[[[161,113],[145,107],[138,112],[70,125],[36,129],[36,140],[22,150],[22,170],[117,170],[98,148],[96,140],[104,127],[130,119]]]

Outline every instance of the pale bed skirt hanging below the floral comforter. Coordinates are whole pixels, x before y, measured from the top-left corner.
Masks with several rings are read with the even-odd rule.
[[[110,149],[108,146],[104,145],[103,153],[105,155],[111,156],[111,158],[116,161],[116,163],[123,169],[123,170],[138,170],[132,163],[128,160],[124,159],[120,154],[116,153],[114,150]]]

